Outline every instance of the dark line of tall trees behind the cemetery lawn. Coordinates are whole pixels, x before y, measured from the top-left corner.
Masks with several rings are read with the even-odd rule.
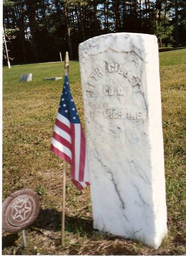
[[[117,32],[155,34],[159,47],[186,45],[186,0],[3,0],[13,63],[78,59],[78,45]]]

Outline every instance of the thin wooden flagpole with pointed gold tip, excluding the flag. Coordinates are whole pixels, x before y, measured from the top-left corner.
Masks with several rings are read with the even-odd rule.
[[[65,54],[65,75],[68,75],[69,56]],[[66,162],[63,162],[63,198],[62,198],[62,220],[61,220],[61,245],[65,243],[65,191],[66,191]]]

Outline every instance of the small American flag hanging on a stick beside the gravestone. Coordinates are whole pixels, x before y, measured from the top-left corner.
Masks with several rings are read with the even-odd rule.
[[[85,136],[66,75],[50,148],[71,165],[71,179],[79,190],[89,185]]]

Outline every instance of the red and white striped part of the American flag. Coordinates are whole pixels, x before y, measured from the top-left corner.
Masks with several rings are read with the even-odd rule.
[[[71,164],[71,179],[78,189],[89,185],[86,141],[80,123],[70,123],[58,112],[51,150]]]

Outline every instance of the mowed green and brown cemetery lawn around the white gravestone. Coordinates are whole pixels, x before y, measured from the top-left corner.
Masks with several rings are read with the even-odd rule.
[[[66,244],[60,245],[62,161],[50,151],[63,80],[61,63],[3,68],[3,200],[24,186],[40,195],[41,210],[21,233],[3,232],[3,254],[23,255],[183,255],[186,254],[186,49],[162,52],[160,78],[168,236],[159,249],[93,230],[90,189],[79,192],[66,181]],[[33,73],[32,82],[18,82]],[[71,61],[70,87],[84,128],[79,62]]]

